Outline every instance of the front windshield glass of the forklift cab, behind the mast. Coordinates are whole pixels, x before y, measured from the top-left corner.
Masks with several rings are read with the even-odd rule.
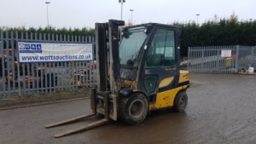
[[[119,45],[121,65],[138,66],[140,50],[147,37],[144,29],[145,27],[139,27],[124,31]]]

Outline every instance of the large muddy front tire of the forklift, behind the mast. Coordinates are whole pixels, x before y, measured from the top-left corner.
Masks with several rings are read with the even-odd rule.
[[[133,93],[120,98],[118,113],[123,122],[129,125],[142,123],[148,113],[148,101],[144,94]]]

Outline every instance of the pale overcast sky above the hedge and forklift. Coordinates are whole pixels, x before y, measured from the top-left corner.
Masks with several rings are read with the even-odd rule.
[[[44,0],[0,0],[0,27],[46,27],[47,4]],[[118,0],[49,0],[49,25],[56,28],[94,28],[95,22],[121,19]],[[126,0],[123,20],[133,23],[172,23],[189,20],[204,22],[217,14],[229,17],[234,11],[239,19],[256,18],[255,0]]]

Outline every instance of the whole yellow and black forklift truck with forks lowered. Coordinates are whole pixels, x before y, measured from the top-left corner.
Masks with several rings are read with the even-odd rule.
[[[103,114],[104,118],[55,137],[106,124],[118,117],[138,125],[153,110],[187,106],[189,73],[180,70],[181,28],[145,23],[125,27],[121,40],[118,27],[124,21],[96,23],[97,88],[91,88],[92,113],[46,125],[46,128],[73,123]]]

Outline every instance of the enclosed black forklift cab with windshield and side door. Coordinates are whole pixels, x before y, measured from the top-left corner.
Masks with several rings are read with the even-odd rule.
[[[177,88],[180,35],[180,27],[158,23],[124,28],[119,45],[122,87],[141,90],[150,103],[157,93]]]

